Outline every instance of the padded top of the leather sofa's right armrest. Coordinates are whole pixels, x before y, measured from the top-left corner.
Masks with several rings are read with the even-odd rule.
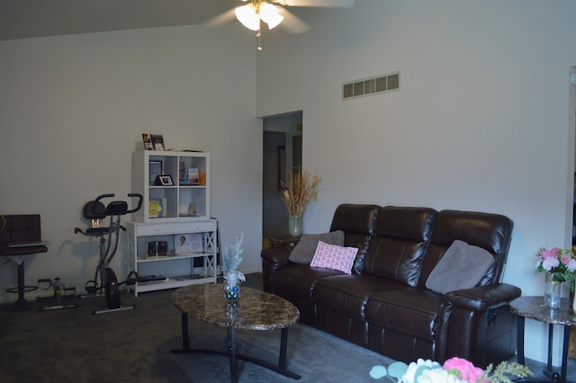
[[[495,283],[473,289],[450,291],[444,296],[448,306],[468,308],[473,311],[486,311],[498,307],[509,300],[518,298],[522,290],[508,283]]]

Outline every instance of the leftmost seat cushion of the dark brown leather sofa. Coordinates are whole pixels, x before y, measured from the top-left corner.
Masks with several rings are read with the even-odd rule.
[[[311,289],[315,281],[337,274],[343,272],[293,263],[274,273],[274,291],[276,294],[311,302]]]

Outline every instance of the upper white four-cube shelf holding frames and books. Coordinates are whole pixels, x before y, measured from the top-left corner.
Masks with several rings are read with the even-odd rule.
[[[198,178],[190,180],[187,175],[194,169]],[[169,175],[173,185],[155,184],[156,175]],[[144,198],[142,209],[134,214],[137,222],[209,219],[210,154],[136,151],[132,155],[132,188]]]

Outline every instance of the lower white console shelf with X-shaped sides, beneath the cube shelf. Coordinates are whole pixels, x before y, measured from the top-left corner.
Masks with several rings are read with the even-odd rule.
[[[216,219],[189,222],[158,222],[126,224],[129,242],[130,267],[137,272],[139,281],[130,289],[139,292],[174,289],[197,283],[216,283],[218,268]],[[176,254],[180,236],[197,237],[199,245],[186,254]],[[148,253],[148,244],[166,243],[166,255]]]

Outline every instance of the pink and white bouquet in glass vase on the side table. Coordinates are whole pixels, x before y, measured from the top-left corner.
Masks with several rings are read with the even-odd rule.
[[[547,272],[553,275],[557,282],[568,282],[574,291],[574,271],[576,271],[576,256],[573,249],[541,248],[536,253],[536,272]]]

